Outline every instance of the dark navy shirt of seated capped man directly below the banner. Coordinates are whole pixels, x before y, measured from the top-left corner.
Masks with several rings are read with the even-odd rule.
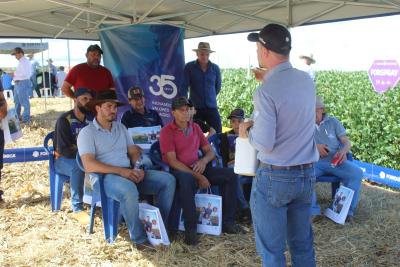
[[[164,126],[157,111],[147,108],[144,109],[144,114],[135,111],[133,108],[125,111],[122,115],[121,123],[128,129],[133,127]]]

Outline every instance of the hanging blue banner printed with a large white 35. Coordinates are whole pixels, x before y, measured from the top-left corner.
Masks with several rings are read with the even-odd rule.
[[[132,86],[144,90],[146,107],[164,124],[171,120],[172,99],[178,94],[185,66],[184,31],[166,25],[133,25],[100,32],[104,65],[111,71],[118,99],[128,104]],[[129,106],[119,110],[125,111]]]

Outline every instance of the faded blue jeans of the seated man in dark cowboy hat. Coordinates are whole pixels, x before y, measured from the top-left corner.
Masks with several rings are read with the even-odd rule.
[[[107,197],[119,202],[131,240],[140,244],[147,237],[139,219],[139,192],[156,195],[157,206],[166,224],[175,193],[175,178],[167,172],[147,170],[143,181],[135,184],[121,176],[106,174],[104,190]]]

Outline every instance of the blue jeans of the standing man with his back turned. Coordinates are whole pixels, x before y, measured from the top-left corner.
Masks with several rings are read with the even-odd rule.
[[[257,251],[263,266],[286,266],[286,242],[293,267],[316,266],[310,220],[314,183],[313,167],[291,170],[258,168],[250,206]]]

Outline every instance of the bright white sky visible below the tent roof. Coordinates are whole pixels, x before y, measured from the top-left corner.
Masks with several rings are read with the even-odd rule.
[[[313,54],[315,70],[368,70],[377,59],[395,59],[400,62],[400,15],[344,21],[292,28],[293,65],[300,64],[300,54]],[[248,68],[257,66],[256,45],[247,41],[248,33],[228,34],[184,41],[185,61],[196,58],[192,49],[202,41],[210,43],[210,60],[221,68]],[[37,39],[0,39],[0,42],[40,42]],[[66,40],[43,39],[49,50],[43,53],[43,62],[52,58],[56,66],[69,66]],[[70,65],[86,61],[85,51],[94,41],[70,40]],[[36,54],[41,63],[42,55]],[[45,62],[46,65],[46,62]],[[10,55],[0,55],[1,67],[16,67]]]

